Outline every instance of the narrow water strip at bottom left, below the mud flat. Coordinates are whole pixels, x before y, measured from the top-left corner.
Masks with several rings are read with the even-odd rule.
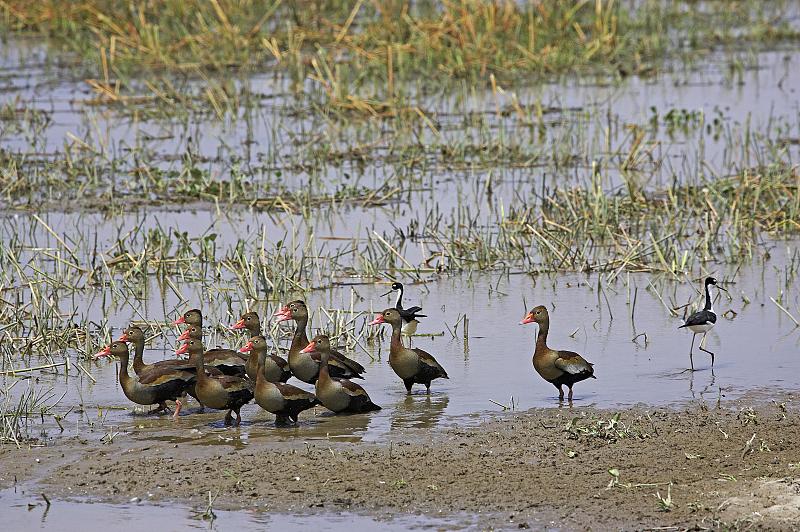
[[[468,521],[416,516],[377,519],[358,514],[284,515],[264,512],[233,512],[213,510],[214,519],[204,519],[205,508],[159,506],[131,501],[133,504],[114,505],[91,501],[45,502],[40,493],[22,489],[0,491],[5,530],[451,530]],[[91,523],[91,526],[89,526]]]

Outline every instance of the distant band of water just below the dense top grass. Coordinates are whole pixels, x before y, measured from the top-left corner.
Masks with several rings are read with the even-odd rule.
[[[791,142],[797,137],[800,111],[796,92],[800,54],[793,49],[748,56],[712,54],[698,65],[652,78],[632,76],[619,83],[559,80],[516,91],[523,108],[540,105],[545,110],[543,129],[522,127],[515,113],[497,114],[497,109],[510,108],[509,94],[498,100],[491,91],[454,91],[446,97],[423,99],[420,105],[430,109],[441,136],[422,130],[419,137],[401,139],[401,146],[422,141],[480,152],[500,143],[523,156],[512,164],[501,161],[488,166],[478,156],[467,156],[453,165],[444,160],[444,164],[423,164],[420,169],[409,169],[409,161],[402,157],[393,160],[386,155],[398,146],[379,140],[385,135],[379,125],[331,124],[294,112],[289,82],[279,76],[238,80],[237,86],[248,93],[269,98],[254,98],[235,118],[220,121],[206,113],[190,113],[164,119],[157,107],[132,117],[130,109],[95,105],[96,95],[82,80],[64,74],[64,69],[46,66],[43,45],[12,39],[6,50],[0,56],[4,100],[14,102],[18,109],[40,111],[49,121],[38,129],[0,121],[0,145],[33,159],[50,158],[66,146],[91,147],[102,154],[101,159],[116,160],[118,167],[96,187],[113,182],[121,192],[140,192],[126,188],[128,174],[140,159],[164,170],[181,170],[184,158],[192,154],[197,166],[210,176],[228,179],[239,168],[265,193],[308,186],[323,193],[345,186],[378,188],[396,180],[410,181],[414,192],[403,200],[423,212],[435,207],[449,214],[462,204],[480,203],[484,187],[470,183],[489,175],[495,197],[506,203],[541,190],[542,183],[589,180],[595,163],[606,170],[604,186],[621,186],[624,180],[618,168],[631,149],[634,125],[647,131],[645,151],[650,155],[640,160],[643,171],[633,172],[645,186],[692,183],[701,174],[727,175],[736,167],[765,162],[767,146],[774,148],[781,142],[785,157],[796,158],[800,153],[800,145]],[[185,89],[202,94],[203,86],[188,82]],[[670,112],[685,117],[665,118],[672,116]],[[479,119],[466,120],[466,116]],[[19,122],[26,123],[22,118]],[[350,149],[363,149],[365,139],[377,142],[375,153],[368,153],[363,161],[346,155]],[[330,145],[332,154],[319,151],[320,145]],[[139,156],[130,160],[134,151]],[[553,161],[556,153],[563,159],[557,163]],[[531,180],[531,175],[536,179]],[[343,227],[352,223],[349,219]]]

